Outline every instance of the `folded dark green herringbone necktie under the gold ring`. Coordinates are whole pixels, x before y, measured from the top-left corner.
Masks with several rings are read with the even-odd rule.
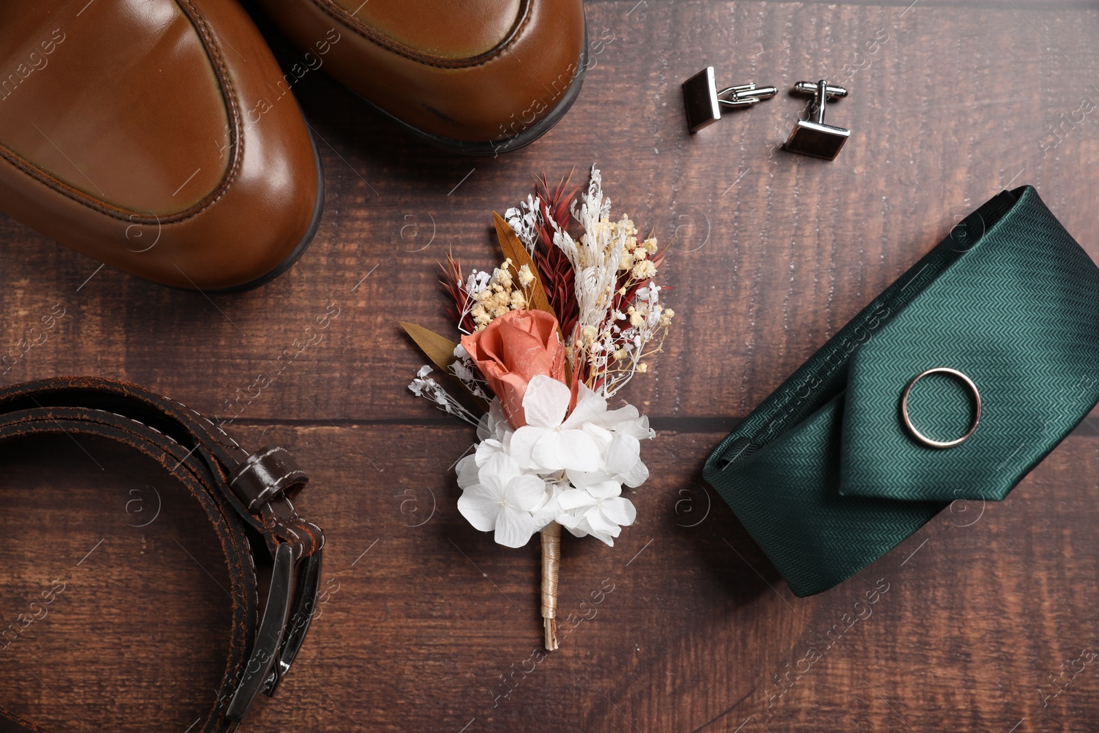
[[[973,436],[928,447],[904,387],[950,367]],[[1099,400],[1099,268],[1030,186],[969,214],[764,400],[707,460],[797,596],[835,586],[950,502],[1001,500]],[[931,375],[912,423],[946,441],[975,404]]]

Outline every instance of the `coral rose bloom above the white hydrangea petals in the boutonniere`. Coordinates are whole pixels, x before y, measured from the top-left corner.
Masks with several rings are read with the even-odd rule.
[[[485,375],[508,422],[526,424],[523,396],[539,375],[565,381],[565,345],[557,319],[545,311],[508,311],[476,333],[462,336],[465,348]]]

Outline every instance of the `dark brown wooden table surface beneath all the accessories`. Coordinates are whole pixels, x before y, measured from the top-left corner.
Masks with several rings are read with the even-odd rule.
[[[1002,503],[944,511],[808,599],[700,478],[739,420],[999,190],[1035,186],[1099,257],[1099,8],[628,0],[587,15],[576,105],[495,159],[436,152],[323,73],[303,78],[326,208],[312,247],[257,291],[99,270],[0,216],[0,351],[64,309],[3,384],[129,379],[230,419],[253,448],[285,445],[312,476],[299,506],[325,530],[329,592],[242,730],[1099,730],[1095,414]],[[679,85],[707,65],[784,92],[689,136]],[[829,108],[854,131],[832,163],[778,149],[804,108],[785,90],[822,76],[851,89]],[[447,329],[436,260],[489,266],[492,210],[532,174],[593,162],[615,211],[671,243],[677,316],[623,392],[659,433],[637,521],[613,548],[565,537],[560,609],[587,618],[541,659],[537,543],[498,546],[458,514],[451,466],[474,433],[406,389],[423,358],[397,320]],[[0,652],[0,704],[53,731],[184,732],[223,665],[223,559],[154,466],[84,447],[0,447],[0,625],[65,584]],[[873,614],[824,646],[874,588],[888,590]],[[807,669],[810,646],[823,656]]]

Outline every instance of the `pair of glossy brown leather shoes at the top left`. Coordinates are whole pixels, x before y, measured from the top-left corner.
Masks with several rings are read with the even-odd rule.
[[[0,3],[0,210],[156,282],[247,289],[320,219],[303,69],[484,154],[537,138],[582,78],[581,0],[259,4],[302,52],[286,73],[236,0]]]

